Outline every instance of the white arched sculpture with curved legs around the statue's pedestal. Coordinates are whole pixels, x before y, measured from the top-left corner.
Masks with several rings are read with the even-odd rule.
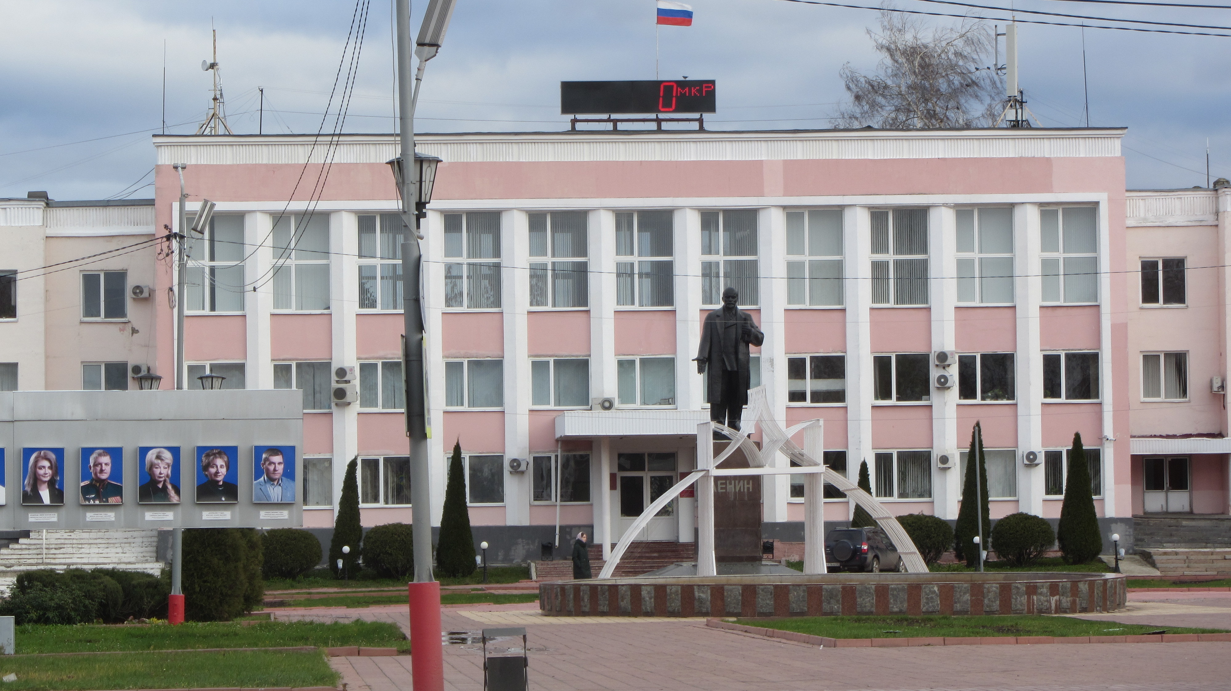
[[[680,496],[681,492],[697,484],[697,575],[716,575],[718,564],[714,558],[714,477],[735,475],[804,475],[804,573],[825,573],[825,515],[824,515],[824,487],[825,483],[837,487],[846,493],[863,510],[868,511],[881,530],[897,546],[897,553],[902,557],[902,563],[910,573],[927,573],[927,564],[910,535],[897,523],[897,519],[885,509],[880,502],[874,499],[851,482],[846,477],[831,471],[819,460],[824,459],[824,421],[811,419],[801,422],[789,429],[783,429],[777,421],[769,417],[769,406],[763,386],[748,391],[748,408],[746,418],[750,422],[744,424],[744,429],[734,430],[726,425],[713,422],[703,422],[697,425],[697,470],[688,473],[688,477],[677,482],[671,489],[655,499],[641,515],[633,521],[633,525],[624,531],[623,537],[612,552],[611,559],[603,566],[598,578],[611,578],[619,564],[620,557],[633,543],[633,539],[657,515],[662,507]],[[748,439],[761,425],[762,446]],[[729,439],[731,444],[718,456],[714,456],[713,434],[718,432]],[[790,438],[799,432],[804,433],[804,446],[800,449]],[[719,464],[725,461],[736,449],[744,451],[748,461],[746,468],[719,468]],[[778,452],[799,464],[798,467],[780,466],[773,464]]]

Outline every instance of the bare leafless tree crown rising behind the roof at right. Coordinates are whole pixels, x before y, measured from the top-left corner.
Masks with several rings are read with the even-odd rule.
[[[991,127],[1001,108],[1001,86],[984,65],[996,45],[987,25],[927,27],[917,17],[880,12],[880,32],[868,36],[883,55],[876,74],[842,65],[851,103],[835,127],[927,129]]]

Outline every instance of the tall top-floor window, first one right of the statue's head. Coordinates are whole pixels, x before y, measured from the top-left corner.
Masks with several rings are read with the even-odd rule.
[[[841,307],[842,210],[787,211],[787,304]]]

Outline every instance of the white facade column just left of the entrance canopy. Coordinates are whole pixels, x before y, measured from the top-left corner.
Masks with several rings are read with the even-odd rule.
[[[529,215],[501,214],[500,294],[505,316],[505,461],[529,461],[531,361],[527,341],[529,309]],[[505,472],[505,525],[529,525],[528,472]]]

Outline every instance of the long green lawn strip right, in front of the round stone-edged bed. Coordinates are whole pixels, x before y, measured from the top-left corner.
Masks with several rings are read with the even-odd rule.
[[[970,636],[1133,636],[1158,631],[1110,621],[1039,615],[1004,616],[835,616],[736,620],[747,626],[798,631],[828,638],[929,638]],[[1221,633],[1219,628],[1169,627],[1167,633]]]

